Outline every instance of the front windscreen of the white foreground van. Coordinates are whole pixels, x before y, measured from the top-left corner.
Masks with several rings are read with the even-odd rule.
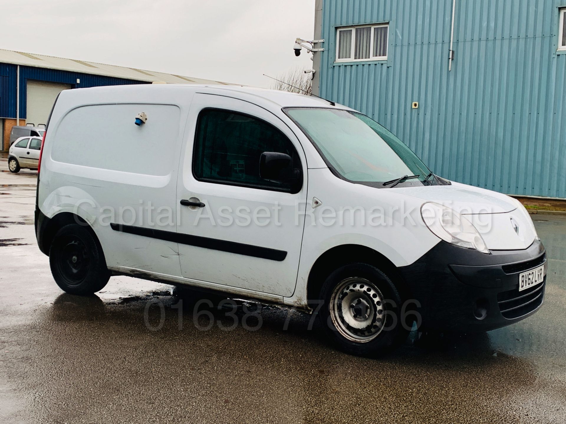
[[[346,180],[375,187],[441,184],[408,146],[366,115],[314,107],[284,111]],[[383,185],[403,176],[413,178]]]

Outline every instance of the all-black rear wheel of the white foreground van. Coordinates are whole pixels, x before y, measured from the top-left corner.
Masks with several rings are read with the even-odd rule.
[[[110,278],[96,236],[79,224],[68,224],[55,234],[49,265],[57,285],[72,295],[92,295]]]

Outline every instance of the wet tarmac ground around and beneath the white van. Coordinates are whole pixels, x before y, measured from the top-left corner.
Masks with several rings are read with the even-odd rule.
[[[232,315],[222,297],[128,277],[63,293],[33,233],[36,172],[6,170],[0,159],[2,423],[566,422],[564,217],[534,215],[549,257],[537,314],[479,335],[413,332],[371,360],[284,308],[238,301]]]

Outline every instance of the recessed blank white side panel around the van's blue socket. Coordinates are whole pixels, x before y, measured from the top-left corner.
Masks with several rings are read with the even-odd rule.
[[[140,112],[148,121],[134,124]],[[92,105],[71,110],[55,126],[51,158],[134,174],[168,175],[179,139],[173,105]]]

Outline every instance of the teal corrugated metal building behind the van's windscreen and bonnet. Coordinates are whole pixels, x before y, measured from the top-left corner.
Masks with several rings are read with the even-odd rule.
[[[445,178],[566,198],[565,15],[566,0],[316,0],[313,92]]]

